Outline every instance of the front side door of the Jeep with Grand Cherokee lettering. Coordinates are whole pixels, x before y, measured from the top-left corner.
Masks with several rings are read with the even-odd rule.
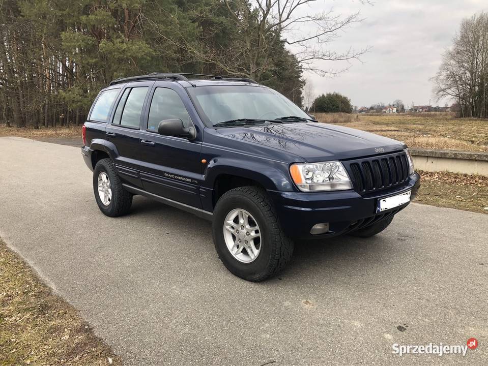
[[[194,111],[185,93],[174,82],[154,85],[149,112],[140,132],[140,177],[146,191],[200,208],[202,133],[197,133],[197,138],[190,141],[161,136],[157,132],[159,122],[165,119],[180,118],[185,127],[193,125],[188,110]]]

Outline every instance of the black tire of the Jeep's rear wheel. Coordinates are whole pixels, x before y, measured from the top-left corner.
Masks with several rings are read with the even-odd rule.
[[[105,174],[109,179],[111,198],[107,204],[102,201],[102,194],[99,192],[99,178]],[[93,170],[93,192],[98,208],[106,216],[117,217],[128,214],[132,205],[132,194],[122,186],[122,182],[113,167],[110,159],[101,159]]]

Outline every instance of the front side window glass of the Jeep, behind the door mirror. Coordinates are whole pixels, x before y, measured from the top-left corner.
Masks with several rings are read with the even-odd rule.
[[[185,127],[191,127],[191,119],[180,96],[173,89],[157,87],[149,107],[148,131],[157,132],[165,119],[180,118]]]

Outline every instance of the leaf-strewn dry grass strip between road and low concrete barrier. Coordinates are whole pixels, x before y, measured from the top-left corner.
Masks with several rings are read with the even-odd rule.
[[[488,214],[488,177],[425,171],[420,175],[416,202]]]

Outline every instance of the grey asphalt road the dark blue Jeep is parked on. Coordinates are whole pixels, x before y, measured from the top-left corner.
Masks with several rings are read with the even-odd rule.
[[[412,204],[255,284],[223,267],[208,222],[142,197],[105,217],[91,180],[78,148],[0,138],[0,236],[127,364],[488,362],[488,215]],[[470,337],[465,357],[392,354]]]

